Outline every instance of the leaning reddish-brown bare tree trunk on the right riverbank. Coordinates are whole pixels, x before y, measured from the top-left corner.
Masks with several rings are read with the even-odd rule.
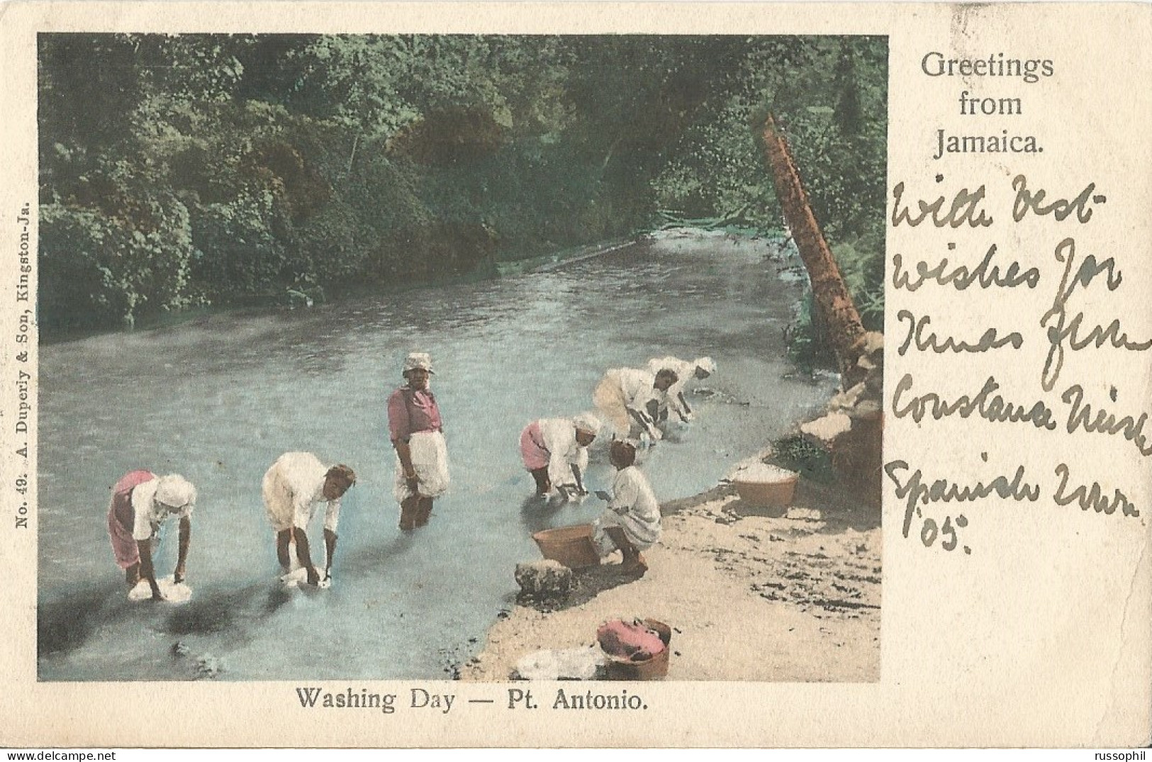
[[[776,197],[785,213],[785,221],[791,229],[796,249],[804,260],[812,296],[820,313],[832,348],[836,353],[840,371],[844,374],[857,359],[857,341],[864,335],[859,313],[848,294],[840,267],[820,233],[820,226],[808,203],[808,193],[801,183],[799,173],[783,135],[776,129],[770,114],[764,122],[764,154],[772,169]]]

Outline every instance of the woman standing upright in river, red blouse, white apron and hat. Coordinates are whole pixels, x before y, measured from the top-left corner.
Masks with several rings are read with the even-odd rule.
[[[411,352],[404,359],[407,383],[388,397],[388,433],[396,450],[394,494],[400,503],[400,528],[424,526],[432,500],[448,489],[448,448],[435,395],[429,388],[432,358]]]

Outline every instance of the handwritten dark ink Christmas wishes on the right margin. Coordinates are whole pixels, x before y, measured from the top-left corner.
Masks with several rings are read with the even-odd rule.
[[[1024,113],[1018,98],[977,98],[963,91],[960,104],[961,114],[965,116],[1017,117]],[[1009,132],[1001,131],[1005,139],[1000,143],[1011,145],[1016,140],[1009,139]],[[994,132],[990,135],[995,138]],[[952,151],[942,130],[938,139],[933,159],[941,159]],[[1034,146],[1033,138],[1026,142]],[[1023,146],[1025,140],[1021,138],[1020,143]],[[975,426],[1023,426],[1041,437],[1054,437],[1051,450],[1054,465],[1043,472],[1037,472],[1034,463],[995,466],[990,464],[988,454],[983,452],[979,464],[967,464],[963,470],[963,473],[979,477],[956,478],[930,473],[926,466],[909,459],[889,460],[884,466],[884,475],[904,509],[903,536],[918,538],[925,548],[945,551],[960,548],[964,555],[971,554],[972,548],[964,542],[965,529],[987,510],[982,506],[992,504],[1007,508],[1014,503],[1046,502],[1053,510],[1078,506],[1085,515],[1120,519],[1140,517],[1140,508],[1122,485],[1112,483],[1109,474],[1075,473],[1076,470],[1068,465],[1074,462],[1060,455],[1064,442],[1091,439],[1123,442],[1137,457],[1152,456],[1152,442],[1145,430],[1147,411],[1119,401],[1114,384],[1106,386],[1109,393],[1108,399],[1104,399],[1098,380],[1093,379],[1094,383],[1089,386],[1083,379],[1062,379],[1066,367],[1085,367],[1083,363],[1068,363],[1077,352],[1099,353],[1087,364],[1097,369],[1111,366],[1107,353],[1127,355],[1152,349],[1152,336],[1138,335],[1138,330],[1126,325],[1126,317],[1107,313],[1109,305],[1116,304],[1112,295],[1124,287],[1119,254],[1109,251],[1109,256],[1102,257],[1092,252],[1091,236],[1077,233],[1092,229],[1089,226],[1100,218],[1100,209],[1107,208],[1108,197],[1100,192],[1096,182],[1077,183],[1068,193],[1037,184],[1025,173],[995,183],[957,183],[950,190],[942,183],[945,176],[937,174],[935,186],[923,193],[914,191],[910,183],[895,183],[888,215],[892,228],[956,230],[957,241],[963,241],[965,231],[969,242],[976,235],[993,236],[993,239],[985,238],[975,251],[969,249],[964,254],[957,252],[957,243],[947,239],[947,252],[923,259],[895,252],[892,256],[892,289],[909,294],[922,289],[946,289],[957,294],[1051,289],[1052,300],[1031,318],[1026,312],[1022,318],[1020,311],[1005,311],[1006,317],[998,318],[998,322],[1010,320],[1015,325],[995,326],[979,322],[973,326],[968,320],[947,325],[948,321],[939,320],[939,315],[923,307],[901,308],[895,314],[896,353],[900,357],[918,355],[925,359],[999,353],[1007,359],[1008,353],[1034,344],[1037,352],[1033,356],[1043,357],[1043,363],[1037,361],[1037,375],[1032,376],[1038,383],[1031,389],[1005,389],[996,375],[987,375],[983,381],[973,379],[968,391],[945,394],[933,383],[934,374],[932,379],[919,380],[914,373],[903,373],[895,383],[889,412],[917,426],[938,425],[948,419],[971,420]],[[1005,238],[994,239],[995,230],[1014,226],[1029,226],[1026,235],[1008,237],[1013,245],[1026,249],[1006,253]],[[980,233],[986,229],[991,230]],[[1051,231],[1051,237],[1045,238],[1048,235],[1045,230]],[[965,245],[971,246],[970,243]],[[948,367],[952,381],[955,360]],[[1018,386],[1015,374],[1014,384]],[[987,435],[977,433],[973,436]],[[1087,449],[1094,445],[1085,441],[1071,447]]]

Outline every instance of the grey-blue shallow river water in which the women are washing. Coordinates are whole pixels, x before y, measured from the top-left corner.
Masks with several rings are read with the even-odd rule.
[[[41,680],[437,679],[467,660],[538,558],[530,534],[592,519],[540,505],[517,449],[538,417],[591,409],[608,367],[710,355],[718,394],[646,454],[660,500],[714,486],[832,393],[793,375],[798,287],[768,242],[666,236],[546,273],[295,311],[229,312],[40,350]],[[432,353],[453,468],[431,524],[396,527],[385,399],[408,351]],[[326,590],[286,592],[260,479],[282,452],[353,466]],[[124,472],[199,490],[192,600],[130,603],[106,532]],[[593,454],[590,488],[612,470]],[[323,513],[323,506],[318,509]],[[175,526],[158,573],[175,563]],[[313,559],[323,558],[318,521]],[[319,554],[319,555],[317,555]]]

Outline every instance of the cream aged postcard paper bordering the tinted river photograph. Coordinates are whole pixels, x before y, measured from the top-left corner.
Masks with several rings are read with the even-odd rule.
[[[878,670],[824,681],[687,680],[676,679],[674,668],[667,680],[646,683],[341,679],[323,670],[276,680],[156,680],[147,670],[134,679],[90,677],[98,670],[46,679],[37,658],[38,645],[44,648],[38,637],[45,637],[43,630],[38,634],[43,599],[37,590],[39,574],[53,559],[38,554],[38,531],[51,480],[60,477],[44,472],[38,442],[46,432],[77,432],[82,441],[84,430],[115,426],[114,414],[82,420],[41,412],[37,36],[50,32],[886,38]],[[1152,144],[1146,130],[1152,94],[1146,85],[1152,62],[1144,45],[1150,32],[1146,6],[1119,3],[5,6],[0,566],[8,615],[0,714],[8,722],[0,742],[1147,745]],[[91,97],[103,92],[93,87]],[[402,352],[389,349],[399,367]],[[500,360],[499,353],[492,358]],[[220,397],[225,410],[241,410],[242,398]],[[382,397],[376,404],[382,406]],[[233,414],[238,425],[238,413],[227,413],[221,430]],[[382,410],[363,414],[379,417]],[[259,428],[258,421],[244,425]],[[281,449],[290,447],[297,445]],[[83,457],[96,456],[85,451]],[[391,464],[386,443],[376,457]],[[103,487],[118,477],[108,474]],[[253,496],[253,520],[262,521],[258,486],[245,488]],[[209,495],[200,500],[198,515],[211,527],[211,501]],[[100,503],[83,510],[98,527],[105,520]],[[395,509],[389,503],[385,510],[391,516]],[[194,534],[200,536],[210,539],[194,546],[192,570],[213,554],[211,528]],[[101,542],[83,553],[108,555]],[[253,564],[271,561],[267,544],[251,551]],[[108,574],[119,574],[108,561]],[[511,569],[506,578],[511,579]],[[74,617],[62,622],[82,622],[84,605],[77,602],[66,611]],[[372,619],[371,610],[364,616],[366,626],[388,626]],[[114,623],[85,630],[97,645],[121,635]],[[118,650],[115,643],[103,645]],[[347,648],[324,628],[302,630],[297,645],[298,651],[281,654],[280,662]],[[131,639],[121,646],[126,661],[142,648]],[[778,647],[763,643],[765,661],[780,657],[773,653]],[[213,669],[205,662],[206,671]],[[400,672],[391,665],[381,673]],[[573,709],[558,701],[559,693],[590,689],[607,696],[605,706],[611,699],[623,708]],[[325,708],[324,699],[305,706],[311,691],[344,702],[354,696],[367,702],[371,695],[374,703],[367,710]],[[593,703],[591,695],[588,701]],[[137,721],[139,708],[146,711]]]

